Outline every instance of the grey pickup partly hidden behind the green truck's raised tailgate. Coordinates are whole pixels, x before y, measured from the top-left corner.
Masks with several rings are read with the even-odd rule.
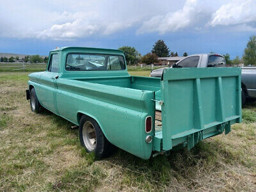
[[[178,61],[172,67],[226,67],[226,61],[221,54],[193,54]],[[150,76],[161,77],[163,70],[164,68],[152,70]],[[256,99],[256,67],[242,67],[241,87],[242,106],[244,106],[246,100]]]

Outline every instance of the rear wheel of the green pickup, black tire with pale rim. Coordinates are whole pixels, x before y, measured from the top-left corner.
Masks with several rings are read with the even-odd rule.
[[[95,153],[97,159],[109,157],[115,151],[115,146],[106,139],[99,124],[86,115],[79,122],[79,140],[87,152]]]

